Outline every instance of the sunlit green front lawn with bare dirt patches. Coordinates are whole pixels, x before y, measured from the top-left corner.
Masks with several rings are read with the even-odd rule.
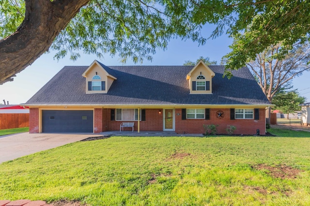
[[[93,206],[310,205],[308,134],[77,142],[0,164],[0,199]],[[301,172],[276,178],[255,169],[262,163]]]

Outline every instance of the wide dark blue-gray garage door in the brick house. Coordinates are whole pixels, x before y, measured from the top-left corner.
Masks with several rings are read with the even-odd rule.
[[[93,132],[93,111],[42,111],[42,132]]]

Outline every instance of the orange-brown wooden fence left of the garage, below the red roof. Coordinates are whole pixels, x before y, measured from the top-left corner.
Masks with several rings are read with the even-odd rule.
[[[0,114],[0,130],[29,127],[29,113]]]

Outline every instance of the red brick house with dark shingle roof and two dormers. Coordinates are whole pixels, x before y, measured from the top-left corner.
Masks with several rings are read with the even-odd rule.
[[[25,103],[30,132],[104,132],[131,122],[135,131],[265,133],[271,104],[247,67],[223,78],[224,66],[65,66]],[[128,125],[128,124],[126,124]],[[123,128],[132,130],[132,128]]]

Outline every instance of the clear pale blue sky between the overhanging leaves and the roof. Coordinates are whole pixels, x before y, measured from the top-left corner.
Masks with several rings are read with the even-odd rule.
[[[186,60],[195,61],[200,56],[209,57],[210,60],[217,60],[220,63],[222,56],[227,54],[232,44],[232,39],[223,35],[215,40],[208,40],[203,46],[192,41],[182,41],[181,39],[172,39],[165,51],[157,50],[153,55],[153,61],[145,60],[142,65],[183,65]],[[119,57],[113,58],[109,54],[104,59],[98,59],[94,55],[84,55],[77,61],[71,61],[69,57],[53,60],[54,52],[42,55],[31,66],[17,74],[13,82],[0,85],[0,103],[9,101],[10,104],[26,103],[41,87],[43,87],[62,67],[69,65],[88,66],[94,59],[99,60],[105,65],[123,65]],[[135,65],[130,59],[125,65]],[[140,65],[140,64],[136,64]],[[294,88],[298,89],[300,94],[310,102],[310,72],[304,73],[293,81]]]

